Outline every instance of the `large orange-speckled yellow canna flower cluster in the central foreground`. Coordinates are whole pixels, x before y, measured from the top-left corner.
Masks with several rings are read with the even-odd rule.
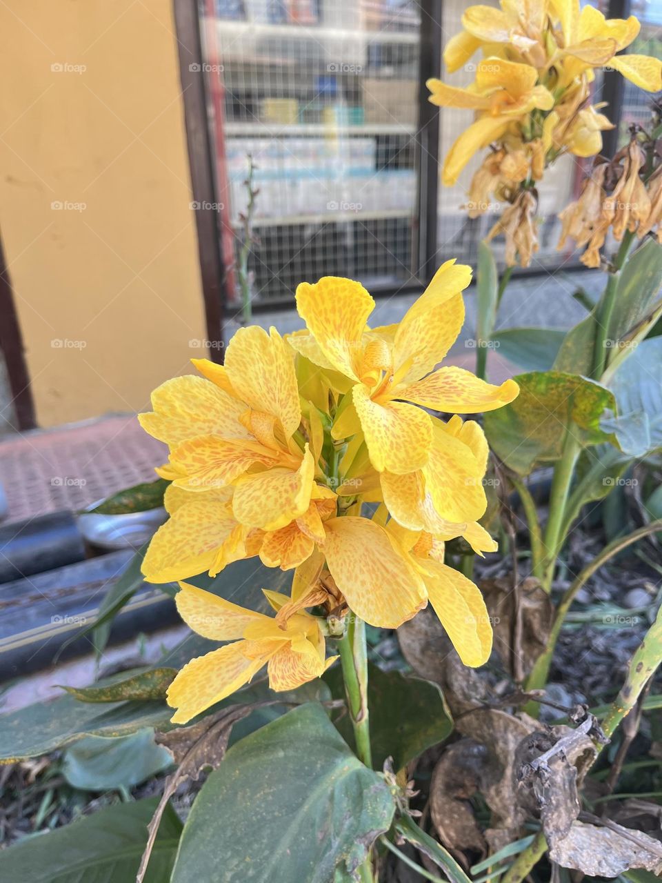
[[[470,414],[512,401],[493,386],[437,367],[463,325],[470,268],[447,261],[397,325],[369,328],[362,285],[327,276],[301,283],[306,328],[241,328],[223,366],[194,360],[154,391],[140,415],[169,445],[169,520],[147,550],[148,581],[183,581],[177,607],[200,634],[236,643],[193,660],[170,686],[187,721],[267,663],[275,690],[319,676],[325,633],[349,611],[396,628],[428,600],[467,665],[485,662],[491,628],[478,588],[444,563],[445,540],[493,551],[478,525],[486,507],[485,436]],[[372,503],[372,517],[362,504]],[[275,616],[187,585],[259,556],[293,570],[290,597],[266,592]],[[307,612],[314,608],[318,615]]]

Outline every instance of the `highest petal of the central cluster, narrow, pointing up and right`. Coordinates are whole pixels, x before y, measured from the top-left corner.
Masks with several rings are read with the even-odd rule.
[[[447,260],[404,314],[395,332],[393,356],[396,371],[410,360],[402,382],[416,381],[428,374],[455,343],[464,322],[461,292],[470,281],[470,267]]]

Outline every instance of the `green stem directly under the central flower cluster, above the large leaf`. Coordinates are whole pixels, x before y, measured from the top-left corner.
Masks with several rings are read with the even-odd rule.
[[[338,652],[345,682],[347,706],[357,743],[357,758],[365,766],[372,767],[370,747],[370,718],[368,713],[368,660],[365,645],[365,623],[353,613],[348,614],[350,622],[347,633],[338,642]]]

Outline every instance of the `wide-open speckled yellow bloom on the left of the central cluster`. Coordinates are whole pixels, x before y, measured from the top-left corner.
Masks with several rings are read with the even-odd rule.
[[[195,364],[208,379],[166,381],[152,394],[154,411],[139,415],[169,445],[159,474],[194,493],[231,485],[232,515],[247,528],[273,531],[303,516],[315,462],[293,440],[302,415],[290,347],[275,328],[241,328],[224,366]]]

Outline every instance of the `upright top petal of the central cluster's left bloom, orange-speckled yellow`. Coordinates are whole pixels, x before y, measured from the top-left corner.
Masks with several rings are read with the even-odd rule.
[[[301,422],[294,356],[287,343],[271,328],[239,328],[228,344],[225,369],[232,387],[255,411],[280,419],[290,438]]]

